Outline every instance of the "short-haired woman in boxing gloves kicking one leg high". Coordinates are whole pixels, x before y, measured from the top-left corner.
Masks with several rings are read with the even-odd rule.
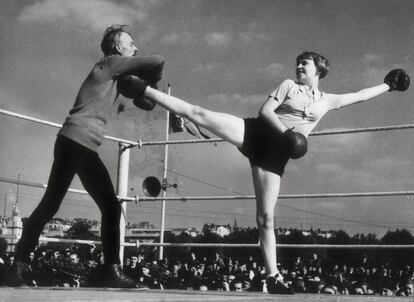
[[[386,91],[403,91],[409,86],[408,75],[397,69],[385,77],[383,84],[355,93],[329,94],[318,89],[319,80],[328,70],[328,60],[323,56],[314,52],[302,53],[296,59],[297,81],[285,80],[269,95],[259,117],[247,119],[194,106],[145,87],[145,83],[138,79],[135,82],[138,97],[134,103],[149,99],[235,145],[249,159],[269,293],[292,293],[276,266],[274,209],[287,161],[306,152],[306,141],[297,138],[300,135],[307,137],[330,110],[372,99]],[[294,154],[297,150],[302,154]]]

